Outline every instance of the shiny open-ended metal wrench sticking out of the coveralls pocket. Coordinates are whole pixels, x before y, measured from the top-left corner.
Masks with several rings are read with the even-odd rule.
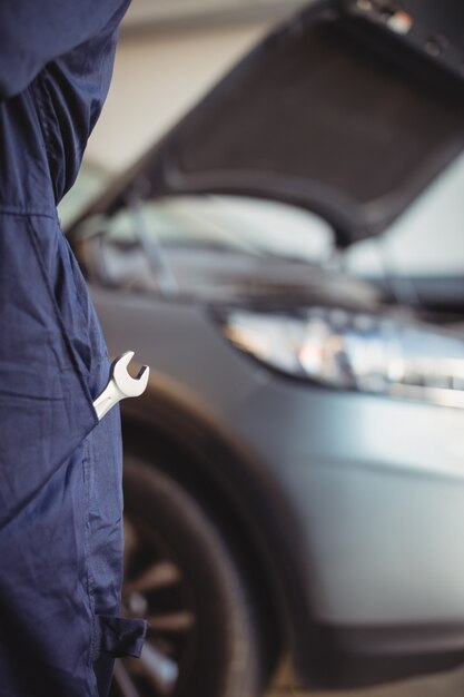
[[[111,364],[111,374],[103,392],[93,402],[99,421],[121,400],[142,394],[148,384],[150,369],[142,365],[137,377],[132,377],[127,370],[134,357],[134,351],[127,351]]]

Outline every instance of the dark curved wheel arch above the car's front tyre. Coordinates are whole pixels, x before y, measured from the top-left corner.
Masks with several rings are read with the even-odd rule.
[[[169,457],[168,472],[214,512],[245,571],[266,580],[277,632],[297,673],[307,674],[313,647],[316,668],[320,642],[312,637],[297,523],[268,468],[217,416],[159,375],[142,397],[124,403],[122,424],[125,448],[148,460]]]

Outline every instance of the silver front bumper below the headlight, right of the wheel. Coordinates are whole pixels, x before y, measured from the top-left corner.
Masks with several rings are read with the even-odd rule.
[[[338,654],[330,685],[462,660],[463,420],[275,376],[233,415],[294,511],[313,634]]]

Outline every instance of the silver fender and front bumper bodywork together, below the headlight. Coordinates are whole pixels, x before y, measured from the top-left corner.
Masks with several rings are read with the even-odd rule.
[[[272,569],[304,679],[355,685],[447,667],[464,641],[461,411],[308,390],[235,351],[201,305],[100,288],[93,298],[111,352],[131,336],[138,360],[156,367],[151,394],[128,404],[129,420],[156,423],[168,394],[172,415],[185,410],[236,452],[228,465],[207,467]],[[210,446],[205,434],[199,442]],[[332,657],[330,676],[308,647]],[[348,673],[342,662],[338,671],[337,650],[362,665],[352,673],[348,659]],[[442,662],[419,668],[424,651]],[[366,678],[385,654],[412,662],[393,660]]]

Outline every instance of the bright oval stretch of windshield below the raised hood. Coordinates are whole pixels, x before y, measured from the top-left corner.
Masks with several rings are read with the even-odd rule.
[[[217,249],[320,262],[333,247],[330,227],[316,215],[277,202],[235,196],[146,200],[111,218],[112,240],[142,233],[166,249]]]

